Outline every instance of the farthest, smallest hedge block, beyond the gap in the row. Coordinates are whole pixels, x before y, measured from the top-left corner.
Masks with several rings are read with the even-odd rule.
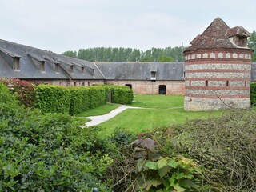
[[[107,86],[111,90],[111,102],[118,104],[131,104],[134,100],[134,92],[128,86]]]

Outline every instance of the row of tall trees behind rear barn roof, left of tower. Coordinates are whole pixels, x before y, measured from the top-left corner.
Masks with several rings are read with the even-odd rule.
[[[96,47],[66,51],[68,57],[80,58],[89,62],[184,62],[184,46],[151,48],[139,50],[132,48]]]

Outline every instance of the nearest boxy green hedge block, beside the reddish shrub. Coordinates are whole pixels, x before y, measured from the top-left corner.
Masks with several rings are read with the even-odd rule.
[[[64,86],[36,86],[35,107],[46,113],[68,114],[70,90]]]

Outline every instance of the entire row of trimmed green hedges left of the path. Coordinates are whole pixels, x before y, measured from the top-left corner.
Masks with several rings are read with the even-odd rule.
[[[36,86],[35,107],[44,113],[79,114],[111,102],[130,104],[134,93],[127,86]]]

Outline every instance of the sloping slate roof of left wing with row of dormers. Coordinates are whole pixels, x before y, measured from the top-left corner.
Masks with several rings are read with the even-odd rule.
[[[14,59],[20,58],[20,70],[13,70]],[[45,62],[45,72],[40,70]],[[55,63],[60,65],[55,70]],[[73,73],[70,70],[73,66]],[[84,67],[84,70],[82,70]],[[104,79],[93,62],[69,58],[47,50],[24,46],[0,39],[0,77],[22,79]]]

